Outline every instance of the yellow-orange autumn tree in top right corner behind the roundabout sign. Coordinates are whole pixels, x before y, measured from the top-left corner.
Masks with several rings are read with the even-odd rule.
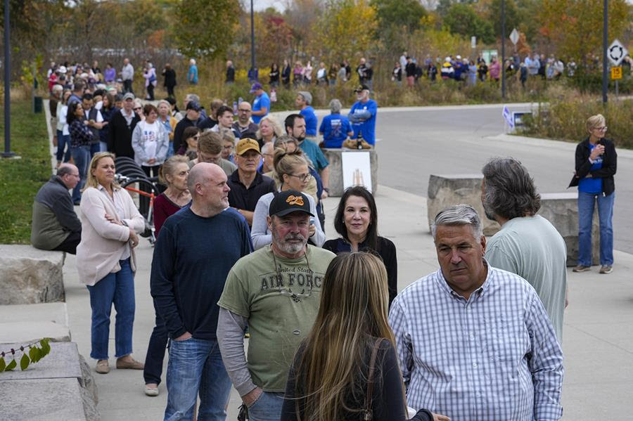
[[[602,12],[601,1],[542,0],[540,33],[563,58],[586,63],[589,56],[601,54]],[[609,1],[609,41],[622,37],[631,18],[632,6],[626,0]]]

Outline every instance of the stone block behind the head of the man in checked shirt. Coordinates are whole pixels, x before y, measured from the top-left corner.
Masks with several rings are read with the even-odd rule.
[[[494,235],[499,231],[499,224],[486,218],[481,204],[482,174],[431,174],[428,178],[428,229],[435,220],[435,215],[442,209],[452,205],[471,205],[479,214],[483,223],[484,235]]]

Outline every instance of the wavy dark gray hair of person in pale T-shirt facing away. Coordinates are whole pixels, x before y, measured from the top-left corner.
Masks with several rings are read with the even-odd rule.
[[[482,204],[489,219],[533,216],[541,209],[528,169],[513,158],[492,158],[482,168],[484,175]]]

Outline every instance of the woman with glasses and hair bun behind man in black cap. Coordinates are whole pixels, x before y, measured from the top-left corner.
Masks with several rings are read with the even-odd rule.
[[[312,178],[308,170],[307,161],[302,153],[287,153],[286,150],[277,148],[274,153],[274,168],[279,176],[281,186],[279,191],[296,190],[305,193],[305,188]],[[267,216],[270,202],[277,193],[267,193],[260,197],[255,206],[255,214],[252,216],[251,237],[255,250],[269,245],[272,242],[272,234],[268,230]],[[316,215],[316,202],[314,197],[305,193],[310,201],[310,212]],[[326,240],[321,222],[318,218],[310,219],[309,241],[317,247],[321,247]]]

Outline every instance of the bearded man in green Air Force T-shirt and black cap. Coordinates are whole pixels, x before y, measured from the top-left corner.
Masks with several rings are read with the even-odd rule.
[[[272,244],[238,260],[217,303],[222,360],[250,421],[281,417],[293,356],[319,311],[321,283],[334,254],[307,245],[310,216],[306,195],[277,194],[267,218]]]

